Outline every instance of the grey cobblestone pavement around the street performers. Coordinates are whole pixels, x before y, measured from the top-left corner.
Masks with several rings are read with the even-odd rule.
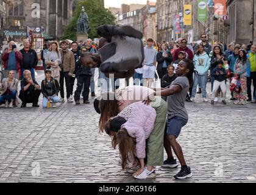
[[[197,97],[186,107],[178,139],[193,172],[186,180],[173,178],[180,166],[157,167],[154,180],[122,171],[93,104],[1,107],[0,182],[256,182],[256,105],[211,106]]]

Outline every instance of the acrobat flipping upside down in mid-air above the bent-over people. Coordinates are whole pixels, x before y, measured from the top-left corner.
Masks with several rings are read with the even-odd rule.
[[[82,55],[82,64],[94,68],[98,66],[106,77],[127,78],[144,61],[143,34],[131,26],[104,25],[98,27],[99,50],[96,55]]]

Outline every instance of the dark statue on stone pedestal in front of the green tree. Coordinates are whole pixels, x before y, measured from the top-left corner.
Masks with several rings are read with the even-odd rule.
[[[84,6],[82,7],[82,11],[79,15],[78,21],[77,21],[77,41],[85,41],[88,38],[88,15],[85,12]]]

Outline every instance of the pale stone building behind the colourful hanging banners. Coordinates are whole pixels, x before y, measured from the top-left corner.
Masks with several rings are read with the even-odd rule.
[[[176,34],[174,19],[183,15],[183,5],[192,5],[192,24],[183,26],[180,34]],[[224,41],[224,21],[213,16],[214,7],[208,7],[208,19],[197,21],[197,1],[195,0],[157,0],[157,40],[171,41],[179,37],[187,38],[188,42],[200,40],[201,34],[207,34],[210,41]]]

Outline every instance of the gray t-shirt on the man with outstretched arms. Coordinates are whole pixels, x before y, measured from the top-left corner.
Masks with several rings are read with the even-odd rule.
[[[177,79],[171,83],[169,88],[172,85],[179,85],[182,88],[182,91],[168,96],[168,119],[173,118],[174,116],[180,116],[184,119],[188,119],[188,113],[185,108],[185,99],[188,90],[190,89],[190,82],[187,77],[177,77]]]

